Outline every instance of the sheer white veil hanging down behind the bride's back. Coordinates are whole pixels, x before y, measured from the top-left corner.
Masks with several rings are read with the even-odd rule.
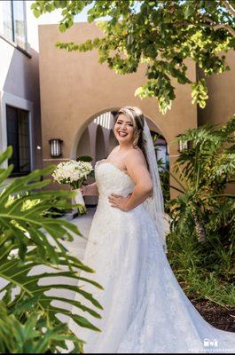
[[[145,154],[149,164],[150,175],[153,180],[153,197],[149,197],[144,201],[144,207],[153,219],[157,232],[161,238],[162,246],[165,252],[168,252],[166,244],[166,220],[164,213],[164,201],[161,190],[161,181],[159,177],[158,162],[156,159],[155,149],[153,146],[153,138],[149,130],[148,124],[144,118],[143,139]]]

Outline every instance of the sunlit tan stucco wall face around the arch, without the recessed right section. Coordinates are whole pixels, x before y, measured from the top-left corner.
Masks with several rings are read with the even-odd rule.
[[[95,24],[89,23],[77,23],[63,34],[57,25],[39,27],[43,164],[58,163],[50,156],[50,138],[63,139],[62,159],[74,158],[76,145],[86,126],[98,114],[126,105],[139,106],[157,125],[168,142],[171,164],[177,155],[177,146],[170,145],[172,139],[197,126],[191,87],[174,83],[176,99],[168,114],[163,115],[156,99],[141,100],[134,96],[137,87],[145,83],[144,65],[137,73],[117,75],[106,64],[98,63],[97,51],[67,52],[55,47],[57,41],[82,43],[99,35]],[[194,63],[186,62],[189,75],[195,80]]]

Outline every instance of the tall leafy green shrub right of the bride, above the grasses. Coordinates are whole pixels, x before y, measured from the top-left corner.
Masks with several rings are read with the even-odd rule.
[[[187,130],[176,140],[191,143],[177,158],[174,170],[182,195],[169,202],[173,218],[172,227],[176,233],[196,231],[199,241],[211,233],[207,227],[210,221],[218,220],[219,205],[225,220],[235,208],[234,195],[224,193],[226,186],[235,180],[235,116],[223,127],[216,129],[212,124]],[[176,177],[174,177],[176,179]],[[231,201],[232,199],[232,201]],[[225,209],[228,206],[228,209]],[[215,218],[215,220],[214,220]],[[218,225],[222,222],[218,220]]]

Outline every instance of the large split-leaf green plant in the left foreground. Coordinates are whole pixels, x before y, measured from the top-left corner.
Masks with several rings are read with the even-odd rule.
[[[12,147],[8,147],[0,155],[0,164],[11,155]],[[83,237],[78,228],[66,220],[45,217],[49,208],[69,208],[67,199],[74,195],[67,191],[41,190],[51,181],[41,181],[41,177],[52,170],[53,166],[35,170],[4,185],[12,166],[0,169],[0,278],[4,282],[0,289],[2,352],[34,352],[36,349],[36,352],[54,352],[58,346],[66,350],[66,340],[72,340],[75,349],[80,349],[82,341],[59,320],[59,314],[72,318],[77,325],[99,330],[79,314],[67,311],[68,306],[75,306],[100,318],[93,309],[102,309],[98,301],[85,288],[72,286],[71,281],[82,280],[85,284],[102,287],[80,277],[81,270],[94,271],[67,254],[63,245],[63,241],[73,241],[74,235]],[[61,282],[60,277],[67,282]],[[56,291],[56,296],[51,296],[51,290]],[[66,290],[89,300],[90,306],[64,297]],[[67,306],[56,306],[55,301]]]

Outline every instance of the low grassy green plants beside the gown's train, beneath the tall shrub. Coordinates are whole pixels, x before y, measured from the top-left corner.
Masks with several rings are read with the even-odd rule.
[[[201,244],[195,233],[170,233],[168,261],[187,296],[234,307],[234,241],[230,243],[218,234]]]

